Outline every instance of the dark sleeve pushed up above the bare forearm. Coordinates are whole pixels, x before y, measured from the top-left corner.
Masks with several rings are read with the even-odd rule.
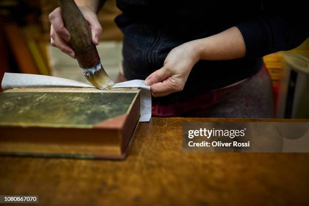
[[[309,12],[303,2],[267,2],[255,18],[236,25],[244,38],[247,57],[290,50],[309,36]]]

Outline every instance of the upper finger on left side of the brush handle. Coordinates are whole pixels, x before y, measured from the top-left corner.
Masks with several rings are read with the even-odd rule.
[[[55,9],[52,13],[48,16],[50,23],[52,23],[55,32],[66,41],[69,41],[71,38],[71,35],[69,31],[65,28],[60,8]]]

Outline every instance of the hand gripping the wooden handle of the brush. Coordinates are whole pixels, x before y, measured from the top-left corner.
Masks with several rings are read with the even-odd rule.
[[[89,23],[91,29],[91,40],[97,45],[99,43],[99,37],[102,33],[102,27],[97,20],[97,16],[93,9],[87,6],[79,7],[86,21]],[[50,44],[56,46],[66,53],[70,57],[75,59],[75,53],[73,49],[67,44],[71,35],[69,31],[64,27],[64,23],[61,17],[60,8],[55,9],[48,16],[50,23]]]

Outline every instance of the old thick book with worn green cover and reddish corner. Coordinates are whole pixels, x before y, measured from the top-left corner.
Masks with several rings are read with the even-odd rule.
[[[8,89],[0,93],[0,153],[123,159],[139,98],[134,88]]]

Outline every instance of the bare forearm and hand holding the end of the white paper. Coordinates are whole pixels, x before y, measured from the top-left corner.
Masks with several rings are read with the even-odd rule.
[[[181,91],[192,67],[199,60],[233,60],[243,58],[246,46],[241,32],[231,27],[213,36],[181,44],[171,50],[164,66],[150,74],[145,84],[151,85],[153,96]]]

